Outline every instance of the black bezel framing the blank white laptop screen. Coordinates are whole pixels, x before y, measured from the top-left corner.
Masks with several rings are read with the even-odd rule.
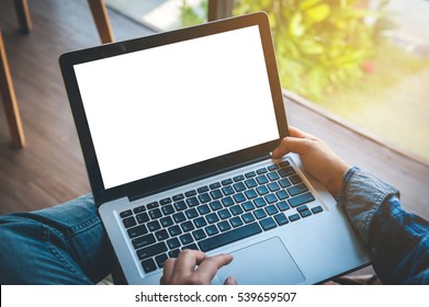
[[[180,169],[171,170],[161,174],[140,179],[111,189],[105,189],[87,116],[84,113],[83,103],[79,92],[78,81],[75,75],[74,66],[92,60],[159,47],[162,45],[208,36],[212,34],[238,30],[252,25],[258,25],[260,32],[275,118],[279,129],[279,138],[253,146],[251,148],[246,148],[236,152],[216,157]],[[94,196],[95,204],[98,206],[105,202],[124,196],[134,198],[138,196],[150,195],[167,189],[171,189],[172,186],[176,186],[178,184],[192,182],[205,175],[210,175],[223,170],[228,170],[235,166],[240,166],[242,163],[252,161],[261,157],[267,158],[269,152],[272,151],[272,149],[279,145],[280,140],[287,135],[287,123],[273,49],[273,42],[271,38],[268,16],[263,12],[230,18],[226,20],[205,23],[202,25],[145,36],[136,39],[66,53],[60,56],[59,65],[63,72],[63,78],[69,98],[76,127],[78,130],[78,136],[84,157],[92,193]]]

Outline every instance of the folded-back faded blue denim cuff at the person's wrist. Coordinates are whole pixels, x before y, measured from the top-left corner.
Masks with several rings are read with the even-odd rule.
[[[343,174],[338,205],[365,243],[375,213],[390,195],[399,197],[399,191],[358,167],[350,168]]]

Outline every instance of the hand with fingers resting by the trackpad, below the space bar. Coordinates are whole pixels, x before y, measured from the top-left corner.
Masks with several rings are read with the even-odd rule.
[[[217,270],[230,263],[233,255],[217,254],[207,257],[196,250],[182,250],[179,257],[170,258],[163,264],[161,285],[210,285]],[[225,285],[237,284],[233,277]]]

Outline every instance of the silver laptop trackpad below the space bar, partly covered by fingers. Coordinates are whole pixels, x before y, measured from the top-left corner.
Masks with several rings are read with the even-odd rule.
[[[228,276],[234,276],[241,285],[290,285],[305,281],[278,237],[236,250],[232,254],[233,262],[217,272],[221,284]]]

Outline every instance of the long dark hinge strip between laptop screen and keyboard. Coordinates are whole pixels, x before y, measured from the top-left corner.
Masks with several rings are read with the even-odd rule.
[[[137,195],[128,195],[128,200],[129,200],[129,202],[134,202],[134,201],[136,201],[138,198],[143,198],[143,197],[146,197],[146,196],[149,196],[149,195],[161,193],[163,191],[172,190],[174,187],[187,185],[187,184],[200,181],[200,180],[204,180],[204,179],[207,179],[207,178],[211,178],[211,177],[214,177],[214,175],[218,175],[218,174],[225,173],[225,172],[234,171],[234,170],[237,170],[237,169],[240,169],[240,168],[244,168],[244,167],[247,167],[247,166],[250,166],[250,164],[253,164],[253,163],[267,160],[267,159],[271,159],[271,155],[270,154],[266,154],[266,155],[263,155],[261,157],[258,157],[256,159],[248,160],[246,162],[235,164],[234,167],[223,168],[223,169],[219,169],[219,170],[214,171],[214,172],[208,172],[208,173],[206,173],[204,175],[194,177],[194,178],[192,178],[190,180],[180,181],[180,182],[178,182],[176,184],[170,184],[170,185],[162,186],[160,189],[151,190],[151,191],[148,191],[147,193],[137,194]]]

